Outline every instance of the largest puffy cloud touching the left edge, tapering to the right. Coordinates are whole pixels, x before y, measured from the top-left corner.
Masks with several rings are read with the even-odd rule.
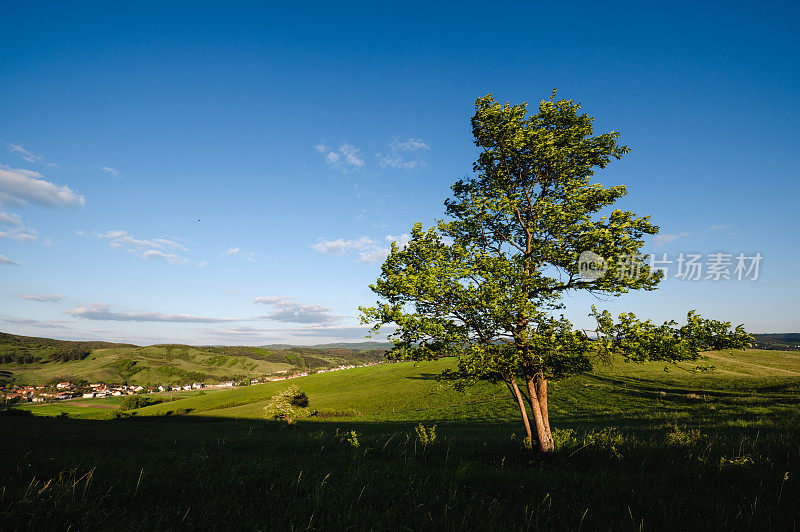
[[[68,186],[58,186],[33,170],[0,165],[0,204],[37,203],[47,207],[83,206],[86,200]]]

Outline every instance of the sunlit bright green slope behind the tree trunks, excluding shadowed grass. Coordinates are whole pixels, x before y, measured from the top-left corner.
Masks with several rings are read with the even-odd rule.
[[[620,362],[553,382],[551,416],[555,424],[598,416],[624,423],[643,415],[674,423],[700,412],[736,421],[762,406],[797,416],[794,405],[800,400],[800,355],[747,350],[711,352],[708,356],[716,367],[712,373],[695,373],[689,364],[670,366],[665,372],[663,363]],[[310,408],[318,411],[310,421],[517,422],[519,413],[505,388],[482,384],[461,393],[437,381],[436,374],[452,363],[452,359],[399,362],[232,390],[209,390],[202,395],[172,397],[172,401],[167,395],[162,397],[164,402],[139,409],[137,416],[263,419],[269,398],[296,385],[308,395]],[[23,408],[42,415],[66,412],[80,418],[113,417],[106,404],[93,399]]]

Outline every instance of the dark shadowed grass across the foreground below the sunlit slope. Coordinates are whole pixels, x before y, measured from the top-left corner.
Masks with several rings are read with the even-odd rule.
[[[748,425],[563,430],[542,459],[502,424],[3,416],[0,528],[797,530],[796,419]]]

